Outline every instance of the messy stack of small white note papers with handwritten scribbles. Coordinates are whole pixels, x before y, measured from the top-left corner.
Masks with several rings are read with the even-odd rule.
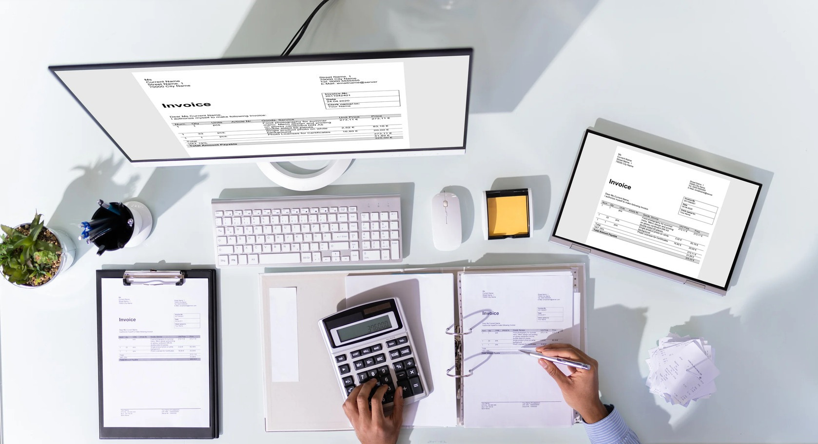
[[[650,349],[648,380],[645,384],[671,404],[688,406],[690,401],[716,393],[719,371],[713,362],[712,346],[702,338],[669,333]]]

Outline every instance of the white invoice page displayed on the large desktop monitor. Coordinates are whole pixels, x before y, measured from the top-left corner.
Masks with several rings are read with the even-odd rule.
[[[133,76],[194,158],[409,148],[403,62],[276,65]]]

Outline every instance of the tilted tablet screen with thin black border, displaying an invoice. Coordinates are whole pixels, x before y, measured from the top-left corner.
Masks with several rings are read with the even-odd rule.
[[[588,130],[554,238],[726,290],[760,190]]]

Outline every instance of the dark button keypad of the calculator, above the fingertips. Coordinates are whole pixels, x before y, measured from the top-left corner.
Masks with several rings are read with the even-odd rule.
[[[378,353],[384,350],[384,346],[388,351]],[[357,385],[364,384],[371,379],[376,380],[375,388],[386,385],[384,404],[394,401],[395,388],[397,387],[403,388],[403,397],[420,395],[425,391],[423,384],[420,382],[420,374],[407,336],[353,350],[349,352],[349,357],[353,359],[351,366],[350,364],[343,364],[338,367],[339,374],[342,376],[348,374],[352,369],[357,371],[355,377],[348,375],[341,380],[347,394],[352,393],[356,383]],[[335,362],[344,362],[346,360],[346,353],[335,356]],[[392,371],[390,371],[390,366],[393,369]],[[372,393],[375,393],[374,389]],[[370,398],[371,396],[372,394],[370,394]]]

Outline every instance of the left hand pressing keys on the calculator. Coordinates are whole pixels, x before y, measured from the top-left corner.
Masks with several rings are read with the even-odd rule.
[[[372,395],[372,409],[369,408],[369,393],[375,387],[375,380],[353,388],[344,402],[344,413],[355,428],[355,434],[361,444],[394,444],[398,442],[398,433],[403,424],[403,389],[398,387],[392,413],[384,415],[381,401],[386,393],[386,386],[381,385]]]

